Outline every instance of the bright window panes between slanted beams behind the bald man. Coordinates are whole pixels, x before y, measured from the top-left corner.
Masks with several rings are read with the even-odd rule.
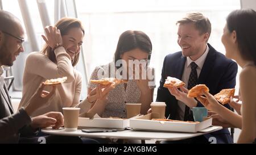
[[[54,2],[53,1],[52,3],[50,1],[47,1],[47,2],[48,2],[47,8],[50,15],[49,17],[52,23],[53,17],[54,17],[53,16]],[[28,40],[24,21],[26,20],[26,22],[31,22],[32,27],[34,28],[35,39],[36,39],[34,41],[35,43],[37,43],[37,45],[34,44],[32,46],[34,48],[38,48],[39,50],[42,49],[44,45],[44,40],[41,37],[41,35],[44,33],[44,29],[42,26],[42,22],[41,22],[39,11],[38,11],[38,5],[36,1],[27,1],[27,7],[28,7],[27,11],[29,12],[30,19],[29,18],[23,19],[22,12],[20,10],[20,3],[17,0],[2,0],[2,4],[3,4],[3,10],[11,12],[12,14],[14,14],[20,19],[20,21],[23,24],[23,29],[25,31],[25,41],[23,43],[24,52],[20,53],[17,60],[14,61],[14,65],[12,67],[14,83],[13,83],[13,91],[11,92],[11,96],[13,98],[20,98],[21,97],[20,91],[22,91],[22,78],[23,78],[25,61],[29,53],[35,52],[34,50],[31,49],[32,43],[30,42],[30,40]]]

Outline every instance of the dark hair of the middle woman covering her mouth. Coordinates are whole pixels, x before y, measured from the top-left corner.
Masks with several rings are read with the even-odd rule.
[[[121,34],[117,43],[117,49],[115,50],[114,60],[117,62],[121,55],[125,52],[129,52],[133,49],[139,48],[143,52],[148,53],[148,60],[151,58],[152,43],[146,33],[142,31],[128,30]]]

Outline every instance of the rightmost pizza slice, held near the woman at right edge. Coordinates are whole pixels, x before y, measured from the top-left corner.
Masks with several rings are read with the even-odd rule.
[[[218,102],[222,104],[229,103],[230,97],[234,97],[235,89],[223,89],[220,93],[214,95],[214,98],[218,100]]]

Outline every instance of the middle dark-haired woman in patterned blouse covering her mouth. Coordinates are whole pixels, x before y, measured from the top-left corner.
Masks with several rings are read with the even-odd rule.
[[[129,74],[129,60],[139,60],[146,62],[150,60],[152,44],[150,38],[142,31],[125,31],[119,37],[117,49],[114,54],[114,61],[109,64],[96,67],[90,79],[101,79],[102,77],[116,77],[118,70],[123,69],[120,73],[122,79],[129,79],[127,83],[121,83],[117,86],[109,85],[102,90],[103,86],[97,86],[93,83],[88,85],[88,93],[97,87],[98,99],[93,104],[89,112],[98,114],[102,117],[118,117],[126,118],[125,103],[142,103],[141,114],[146,114],[150,103],[153,100],[154,94],[154,70],[151,68],[143,68],[142,65],[137,66],[139,73],[142,75],[142,70],[147,70],[146,78],[135,78],[134,74]],[[120,60],[122,65],[118,64]],[[125,67],[124,64],[127,64]],[[114,66],[114,67],[113,67]],[[143,68],[143,69],[142,69]],[[135,67],[134,67],[135,70]],[[133,70],[133,71],[134,71]],[[101,76],[104,73],[105,76]],[[148,74],[149,73],[149,74]],[[153,75],[152,75],[153,74]],[[148,76],[152,75],[152,76]],[[133,77],[133,79],[131,79]]]

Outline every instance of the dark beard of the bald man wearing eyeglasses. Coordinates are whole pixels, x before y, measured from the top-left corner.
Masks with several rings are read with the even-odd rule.
[[[6,47],[5,43],[3,43],[3,47],[0,48],[0,63],[5,66],[13,66],[11,52]]]

